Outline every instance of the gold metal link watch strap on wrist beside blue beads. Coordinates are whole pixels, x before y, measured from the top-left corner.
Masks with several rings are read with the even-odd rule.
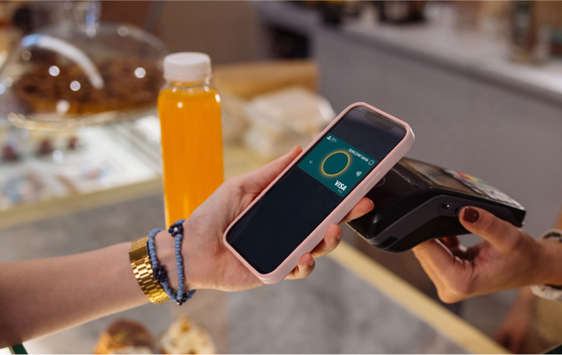
[[[153,304],[162,304],[170,299],[160,282],[155,279],[151,259],[148,257],[148,249],[146,248],[148,237],[137,239],[133,242],[129,249],[130,266],[133,267],[135,279],[144,292],[144,295],[150,299]]]

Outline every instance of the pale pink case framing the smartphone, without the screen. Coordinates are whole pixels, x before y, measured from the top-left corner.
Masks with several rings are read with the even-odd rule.
[[[293,250],[293,252],[289,254],[289,256],[287,256],[287,258],[275,270],[269,272],[268,274],[262,274],[258,272],[240,254],[238,254],[238,252],[230,244],[228,244],[228,242],[226,241],[226,235],[228,231],[230,231],[230,228],[232,228],[232,226],[243,215],[245,215],[248,212],[248,210],[257,201],[259,201],[259,199],[263,197],[263,195],[271,188],[271,186],[277,183],[277,181],[281,178],[281,176],[287,173],[287,171],[291,169],[293,165],[295,165],[295,163],[298,161],[298,159],[300,159],[301,156],[307,154],[309,149],[312,149],[312,146],[314,146],[316,142],[318,142],[318,140],[320,140],[327,133],[327,131],[332,129],[332,126],[334,126],[334,124],[336,124],[336,122],[338,122],[341,119],[341,117],[343,117],[343,115],[345,115],[348,112],[348,110],[357,106],[364,106],[366,108],[375,111],[376,113],[380,113],[380,115],[383,115],[384,117],[389,118],[394,122],[397,122],[398,124],[402,124],[402,126],[405,126],[406,128],[405,137],[386,157],[384,157],[384,159],[380,161],[380,163],[375,167],[375,169],[373,169],[373,171],[370,174],[368,174],[366,178],[363,179],[363,181],[361,181],[361,183],[359,183],[359,185],[357,185],[355,189],[352,192],[350,192],[350,194],[345,199],[343,199],[343,201],[341,201],[341,204],[339,204],[337,208],[332,210],[332,213],[330,213],[330,215],[328,215],[326,219],[323,220],[323,222],[321,222],[321,224],[318,224],[316,229],[314,229],[314,231],[312,231],[312,233],[310,233],[309,236],[307,236],[307,238],[305,238],[305,240],[303,240],[303,242],[301,242],[300,245],[298,245],[298,247],[296,247],[296,249]],[[406,155],[406,153],[410,150],[413,144],[414,144],[414,133],[411,131],[410,126],[406,122],[402,122],[400,119],[397,119],[396,117],[393,117],[388,113],[384,113],[381,110],[378,110],[377,108],[374,108],[371,105],[365,104],[364,102],[357,102],[355,104],[348,106],[348,108],[343,110],[343,112],[340,113],[339,116],[336,117],[334,121],[332,121],[332,123],[328,125],[326,129],[324,129],[324,131],[322,131],[322,133],[320,133],[320,135],[318,135],[318,137],[316,137],[316,139],[312,141],[312,143],[310,143],[308,147],[305,150],[303,150],[303,152],[300,153],[295,158],[295,160],[293,160],[293,162],[285,170],[283,170],[283,172],[279,174],[279,176],[275,180],[273,180],[273,182],[270,183],[269,186],[265,190],[263,190],[261,194],[259,194],[258,197],[254,199],[254,201],[252,201],[250,206],[248,206],[236,218],[236,220],[234,220],[230,224],[230,226],[228,226],[228,228],[223,234],[224,245],[230,251],[232,251],[232,254],[235,254],[235,256],[239,258],[241,263],[246,265],[246,267],[248,267],[248,269],[250,269],[250,271],[253,272],[255,276],[257,276],[264,283],[278,283],[279,281],[284,279],[285,276],[287,276],[287,274],[289,274],[289,272],[291,272],[298,265],[298,261],[300,257],[303,256],[303,254],[312,251],[312,249],[314,249],[314,247],[316,247],[316,245],[318,245],[318,243],[322,241],[327,227],[330,226],[330,224],[339,223],[343,219],[343,217],[345,217],[349,213],[351,208],[353,208],[353,206],[355,206],[357,202],[359,202],[359,200],[363,198],[366,195],[366,193],[369,190],[371,190],[371,188],[373,188],[373,186],[382,178],[382,176],[384,176],[387,172],[389,172],[389,170],[391,170],[392,167],[396,163],[398,163],[398,160],[400,160],[400,158]]]

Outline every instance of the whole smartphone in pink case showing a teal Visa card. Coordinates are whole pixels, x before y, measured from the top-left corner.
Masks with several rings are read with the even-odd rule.
[[[228,226],[225,246],[264,283],[281,281],[413,144],[405,122],[352,104]]]

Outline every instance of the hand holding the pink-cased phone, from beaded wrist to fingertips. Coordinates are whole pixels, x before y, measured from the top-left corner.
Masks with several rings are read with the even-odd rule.
[[[300,152],[295,147],[284,156],[253,172],[227,179],[184,223],[182,245],[186,285],[189,289],[214,288],[225,291],[246,290],[264,283],[246,268],[223,245],[223,233],[230,223],[289,165]],[[341,221],[348,222],[373,209],[373,202],[364,198]],[[341,238],[337,224],[328,226],[324,239],[311,253],[300,257],[298,266],[286,279],[303,279],[314,270],[314,258],[334,250]],[[166,232],[156,237],[158,257],[164,251],[171,287],[177,287],[173,238]],[[172,276],[173,275],[173,276]]]

